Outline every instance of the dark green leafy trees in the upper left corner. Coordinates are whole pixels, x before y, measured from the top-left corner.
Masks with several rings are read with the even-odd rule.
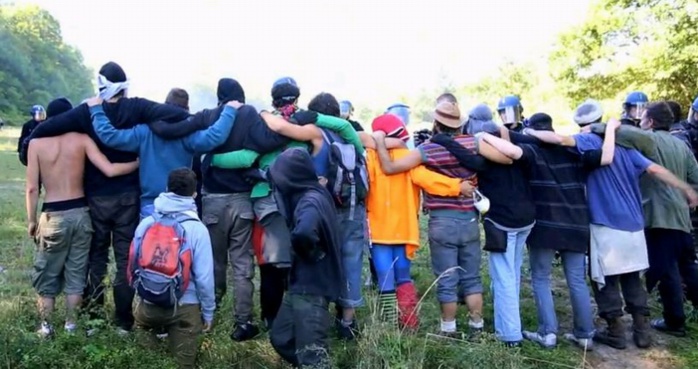
[[[63,42],[58,21],[36,6],[0,6],[0,117],[23,123],[29,108],[92,93],[80,52]]]

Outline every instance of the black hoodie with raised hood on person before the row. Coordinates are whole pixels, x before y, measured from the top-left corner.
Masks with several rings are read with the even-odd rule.
[[[344,276],[339,222],[332,196],[318,182],[306,150],[281,153],[269,169],[279,211],[291,230],[289,292],[339,298]]]

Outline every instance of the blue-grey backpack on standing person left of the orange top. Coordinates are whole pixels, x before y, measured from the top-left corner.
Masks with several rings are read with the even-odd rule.
[[[348,208],[350,219],[354,219],[356,204],[363,203],[368,194],[368,171],[366,158],[354,145],[347,143],[335,132],[320,129],[329,148],[327,189],[338,208]]]

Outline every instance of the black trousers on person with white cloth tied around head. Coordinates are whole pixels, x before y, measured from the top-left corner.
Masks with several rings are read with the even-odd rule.
[[[128,253],[138,226],[140,200],[137,192],[88,198],[92,216],[92,245],[83,305],[93,319],[99,319],[104,308],[104,278],[109,264],[109,246],[114,245],[116,277],[113,293],[115,323],[130,330],[133,327],[133,289],[128,284]]]

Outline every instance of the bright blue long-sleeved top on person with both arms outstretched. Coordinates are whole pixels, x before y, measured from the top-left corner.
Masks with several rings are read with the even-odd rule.
[[[166,140],[155,135],[146,124],[117,129],[109,121],[101,105],[90,108],[92,125],[99,140],[121,151],[138,153],[140,160],[141,208],[166,191],[167,176],[177,168],[191,168],[196,154],[204,154],[225,142],[233,129],[237,111],[226,106],[220,117],[208,129],[186,137]]]

